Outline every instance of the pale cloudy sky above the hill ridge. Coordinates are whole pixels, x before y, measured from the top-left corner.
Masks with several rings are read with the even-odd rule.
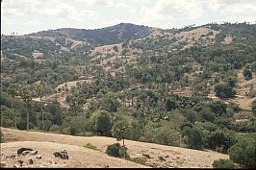
[[[256,0],[2,0],[1,34],[133,23],[162,29],[256,23]]]

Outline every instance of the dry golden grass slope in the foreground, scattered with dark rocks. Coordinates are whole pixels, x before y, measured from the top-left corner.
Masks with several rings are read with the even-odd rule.
[[[7,143],[1,143],[1,161],[5,161],[12,167],[15,161],[4,159],[9,153],[15,153],[20,147],[29,147],[38,150],[42,156],[32,167],[144,167],[140,164],[120,159],[111,158],[104,154],[106,146],[116,142],[115,138],[103,136],[71,136],[64,134],[44,134],[37,132],[22,132],[12,129],[1,128]],[[84,145],[91,143],[99,151],[85,148]],[[125,140],[128,153],[132,158],[144,158],[142,155],[149,155],[146,159],[147,166],[153,167],[176,167],[176,168],[209,168],[212,167],[214,159],[228,158],[227,155],[218,154],[209,150],[196,151],[179,147],[157,145],[132,140]],[[66,150],[68,160],[53,158],[55,151]],[[29,156],[20,157],[28,159]],[[166,160],[159,160],[163,157]],[[52,162],[49,163],[49,162]],[[54,162],[57,164],[53,164]]]

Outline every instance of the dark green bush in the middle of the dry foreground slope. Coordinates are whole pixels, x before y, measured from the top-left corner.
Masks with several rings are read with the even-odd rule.
[[[127,153],[127,148],[125,147],[125,145],[121,146],[119,143],[109,145],[105,153],[108,156],[115,158],[130,158],[130,156]]]

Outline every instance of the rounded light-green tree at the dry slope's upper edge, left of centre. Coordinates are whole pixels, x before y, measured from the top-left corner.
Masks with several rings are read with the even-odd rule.
[[[110,113],[106,110],[96,110],[90,116],[93,131],[102,135],[109,135],[112,128]]]

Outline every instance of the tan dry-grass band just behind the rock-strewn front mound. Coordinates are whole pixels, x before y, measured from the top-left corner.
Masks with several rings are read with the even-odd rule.
[[[7,142],[54,142],[58,144],[80,147],[90,142],[102,152],[105,152],[107,145],[116,142],[115,138],[112,137],[83,137],[65,134],[43,134],[38,132],[17,131],[6,128],[2,128],[2,133],[4,134]],[[212,163],[215,159],[228,158],[227,155],[219,154],[213,151],[198,151],[132,140],[125,140],[125,145],[128,147],[128,153],[131,158],[143,158],[142,154],[149,155],[150,158],[146,158],[146,164],[156,167],[210,168],[212,167]],[[160,160],[159,157],[162,157],[165,160]],[[122,166],[122,164],[120,164],[120,166]]]

